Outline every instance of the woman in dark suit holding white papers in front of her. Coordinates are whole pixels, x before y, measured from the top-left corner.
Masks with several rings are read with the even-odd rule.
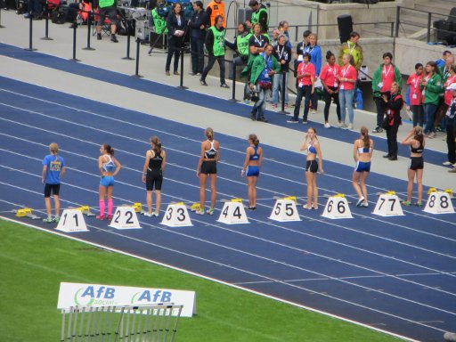
[[[177,68],[179,66],[179,54],[183,47],[183,35],[187,25],[183,18],[182,4],[175,3],[173,5],[173,11],[167,16],[167,66],[165,71],[167,76],[170,76],[169,67],[171,66],[171,60],[173,55],[175,56],[174,63],[174,74],[179,75]]]

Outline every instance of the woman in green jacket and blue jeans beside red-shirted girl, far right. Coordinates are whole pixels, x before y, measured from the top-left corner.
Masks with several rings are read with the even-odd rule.
[[[436,119],[436,110],[440,102],[440,94],[443,93],[442,77],[437,68],[435,61],[428,61],[426,64],[426,76],[421,79],[419,89],[423,92],[424,115],[426,126],[424,133],[427,138],[436,137],[434,121]]]

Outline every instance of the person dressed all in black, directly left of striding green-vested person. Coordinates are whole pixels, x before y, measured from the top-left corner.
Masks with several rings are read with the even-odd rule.
[[[202,74],[204,69],[204,39],[209,17],[200,1],[193,3],[193,10],[188,25],[191,28],[191,75],[196,76]]]

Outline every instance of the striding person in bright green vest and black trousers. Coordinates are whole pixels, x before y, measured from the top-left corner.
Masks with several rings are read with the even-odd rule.
[[[208,72],[214,63],[218,61],[218,66],[220,67],[220,86],[222,88],[229,88],[224,80],[224,35],[226,31],[224,29],[224,17],[217,15],[216,25],[211,26],[208,29],[208,34],[206,35],[206,50],[208,50],[209,61],[207,67],[204,69],[201,78],[199,78],[199,83],[201,85],[208,85],[206,83],[206,77]]]

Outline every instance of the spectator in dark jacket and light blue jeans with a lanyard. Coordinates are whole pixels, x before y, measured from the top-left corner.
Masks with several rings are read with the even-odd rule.
[[[291,61],[291,50],[286,45],[287,37],[281,35],[279,37],[279,44],[273,47],[274,57],[279,64],[281,64],[281,72],[273,77],[273,107],[277,107],[279,102],[279,94],[285,93],[285,106],[289,105],[289,62]],[[282,89],[283,77],[285,77],[285,88]],[[279,93],[280,92],[280,93]]]

